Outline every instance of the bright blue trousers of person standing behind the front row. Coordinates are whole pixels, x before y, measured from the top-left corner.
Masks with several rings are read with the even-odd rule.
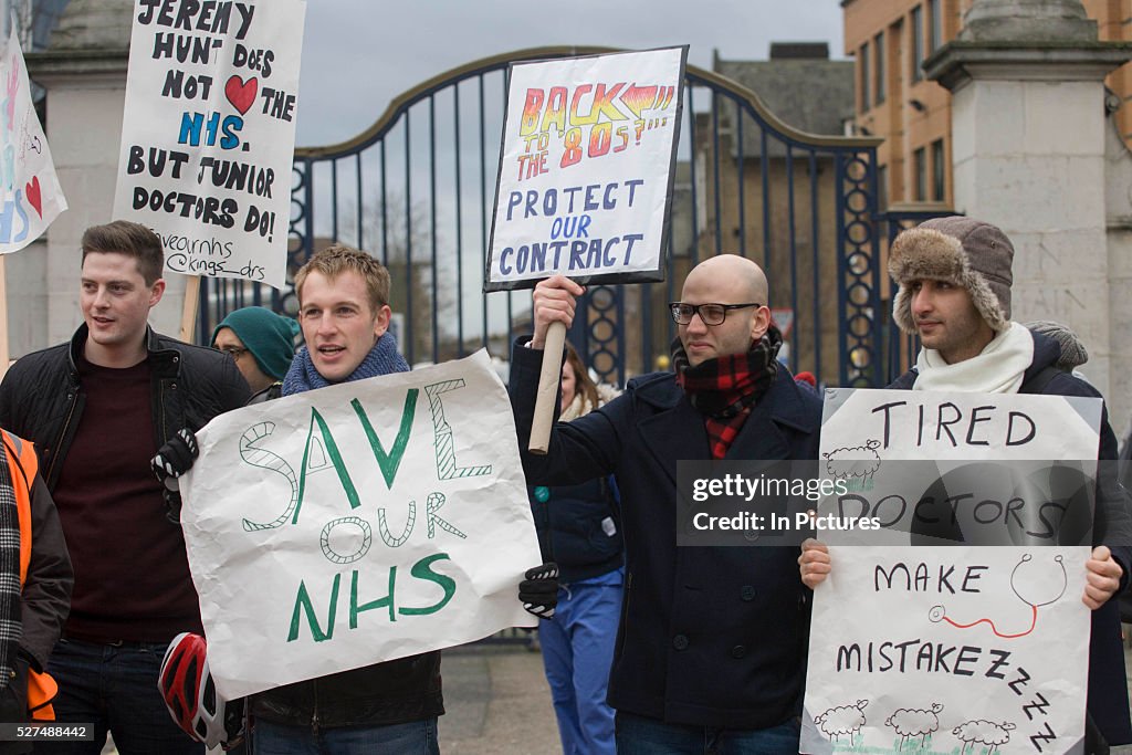
[[[551,619],[539,621],[542,664],[565,755],[614,755],[614,709],[606,703],[617,644],[621,570],[563,585]]]

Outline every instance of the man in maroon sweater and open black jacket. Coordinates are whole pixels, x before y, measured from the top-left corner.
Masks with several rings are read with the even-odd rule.
[[[201,753],[157,692],[169,642],[200,632],[178,525],[180,499],[149,458],[183,427],[242,406],[250,391],[224,354],[155,334],[161,239],[115,221],[83,234],[84,323],[69,343],[22,358],[0,385],[0,424],[35,444],[75,567],[71,612],[49,671],[60,722],[94,741],[41,745],[123,755]]]

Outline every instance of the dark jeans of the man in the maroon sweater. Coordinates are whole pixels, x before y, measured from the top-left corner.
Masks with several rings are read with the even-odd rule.
[[[157,690],[166,647],[168,643],[60,640],[48,663],[59,683],[55,720],[94,724],[94,741],[41,741],[35,752],[98,755],[110,731],[121,755],[203,755],[205,746],[173,723]]]

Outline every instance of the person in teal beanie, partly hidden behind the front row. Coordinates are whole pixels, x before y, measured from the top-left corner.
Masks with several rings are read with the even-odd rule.
[[[299,324],[265,307],[230,312],[213,331],[213,348],[230,354],[251,386],[249,404],[277,398],[291,368]]]

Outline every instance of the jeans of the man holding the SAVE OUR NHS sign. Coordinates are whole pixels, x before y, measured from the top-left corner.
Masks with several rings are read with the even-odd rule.
[[[312,731],[258,720],[251,733],[252,755],[439,755],[436,719],[388,726],[333,727]]]

